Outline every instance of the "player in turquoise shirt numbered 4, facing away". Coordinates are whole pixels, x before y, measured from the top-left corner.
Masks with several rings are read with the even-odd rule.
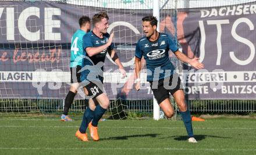
[[[82,60],[83,60],[83,37],[88,31],[91,30],[91,20],[87,16],[82,16],[79,19],[80,29],[73,34],[71,39],[71,50],[70,50],[70,72],[71,72],[71,85],[69,92],[65,98],[65,104],[61,121],[72,121],[67,115],[70,106],[73,103],[74,96],[76,96],[77,89],[80,86],[80,75]],[[88,93],[84,88],[84,92]]]

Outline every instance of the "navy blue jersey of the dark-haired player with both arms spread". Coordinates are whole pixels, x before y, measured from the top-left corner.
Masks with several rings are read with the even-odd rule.
[[[149,41],[147,37],[138,40],[135,56],[141,59],[143,56],[147,63],[147,81],[157,81],[169,77],[174,73],[175,67],[169,60],[169,49],[178,51],[176,42],[173,42],[168,34],[159,33],[157,41]]]

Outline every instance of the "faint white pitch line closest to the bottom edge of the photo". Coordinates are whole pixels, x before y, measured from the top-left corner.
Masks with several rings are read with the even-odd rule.
[[[195,144],[196,145],[196,144]],[[74,148],[51,148],[51,147],[0,147],[0,150],[184,150],[184,151],[231,151],[231,152],[255,152],[256,149],[236,149],[236,148],[229,148],[229,149],[214,149],[214,148],[206,148],[206,149],[186,149],[186,148],[175,148],[175,147],[163,147],[163,148],[147,148],[147,147],[136,147],[136,148],[122,148],[122,147],[104,147],[104,148],[97,148],[97,147],[74,147]]]

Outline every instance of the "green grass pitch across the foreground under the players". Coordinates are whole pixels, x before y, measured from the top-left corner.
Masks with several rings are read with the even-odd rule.
[[[256,120],[208,118],[193,122],[187,142],[182,121],[100,121],[98,142],[74,136],[81,120],[0,118],[0,154],[256,154]],[[89,136],[90,137],[90,136]]]

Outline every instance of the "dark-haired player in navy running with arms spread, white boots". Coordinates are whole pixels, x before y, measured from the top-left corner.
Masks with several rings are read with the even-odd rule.
[[[135,51],[136,90],[140,90],[141,58],[144,57],[147,64],[147,81],[150,82],[152,92],[159,106],[166,117],[173,116],[174,110],[170,103],[169,93],[175,98],[184,125],[189,136],[189,142],[197,143],[194,138],[191,124],[190,111],[184,97],[183,86],[175,67],[169,60],[168,52],[172,51],[177,59],[189,63],[195,69],[203,69],[204,64],[198,62],[198,58],[190,59],[182,52],[176,42],[168,34],[157,31],[157,19],[154,16],[147,16],[142,19],[145,37],[137,42]]]

